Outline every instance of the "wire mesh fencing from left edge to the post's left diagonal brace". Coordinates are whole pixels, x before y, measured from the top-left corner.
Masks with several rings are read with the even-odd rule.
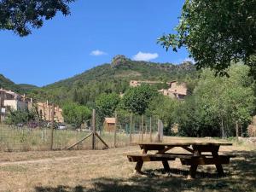
[[[88,133],[81,131],[54,130],[53,149],[65,149],[86,134]],[[0,125],[0,151],[49,150],[50,140],[51,129],[49,128],[31,129]]]

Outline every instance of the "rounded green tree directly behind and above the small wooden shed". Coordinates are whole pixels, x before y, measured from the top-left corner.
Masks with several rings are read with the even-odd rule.
[[[118,107],[120,96],[116,93],[103,93],[96,97],[96,112],[99,119],[112,117],[114,111]]]

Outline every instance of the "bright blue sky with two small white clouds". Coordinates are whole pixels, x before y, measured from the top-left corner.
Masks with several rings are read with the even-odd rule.
[[[179,63],[188,52],[166,52],[156,39],[173,32],[183,1],[78,0],[32,35],[0,31],[0,73],[17,84],[42,86],[110,62],[114,55]]]

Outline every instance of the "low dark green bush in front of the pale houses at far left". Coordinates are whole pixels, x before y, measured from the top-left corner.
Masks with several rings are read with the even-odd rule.
[[[8,125],[26,124],[37,119],[37,113],[28,110],[9,111],[5,123]]]

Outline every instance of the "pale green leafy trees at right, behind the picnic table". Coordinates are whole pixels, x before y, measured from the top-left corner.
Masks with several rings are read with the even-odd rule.
[[[248,67],[230,67],[230,78],[216,78],[204,70],[195,87],[177,110],[181,133],[188,136],[233,136],[236,122],[247,124],[253,114],[252,79]]]

